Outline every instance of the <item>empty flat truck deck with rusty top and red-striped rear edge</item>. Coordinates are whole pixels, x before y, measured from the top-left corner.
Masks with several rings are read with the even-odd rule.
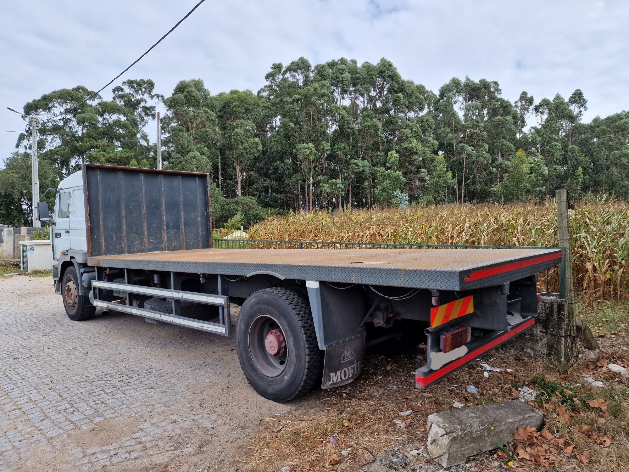
[[[190,249],[89,257],[90,266],[468,290],[542,273],[559,249]]]

